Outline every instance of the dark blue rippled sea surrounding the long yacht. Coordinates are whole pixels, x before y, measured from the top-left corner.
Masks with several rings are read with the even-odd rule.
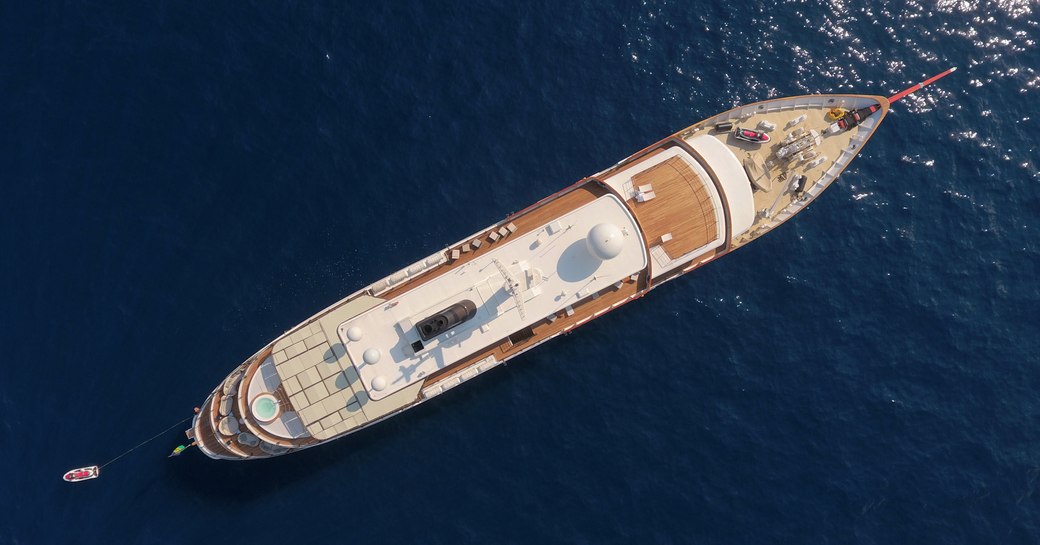
[[[0,543],[1040,543],[1040,5],[8,2]],[[179,426],[361,286],[736,104],[890,95],[776,232],[330,445]]]

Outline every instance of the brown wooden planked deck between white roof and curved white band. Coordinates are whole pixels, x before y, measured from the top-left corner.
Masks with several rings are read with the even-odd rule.
[[[649,154],[647,158],[654,155]],[[661,243],[661,236],[671,233],[672,239],[661,245],[670,257],[676,258],[719,236],[711,194],[705,181],[686,161],[672,157],[632,177],[633,187],[645,184],[653,187],[656,197],[645,203],[635,199],[627,202],[648,244]]]

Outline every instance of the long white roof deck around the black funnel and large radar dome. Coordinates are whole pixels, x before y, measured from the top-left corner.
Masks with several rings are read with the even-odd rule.
[[[615,196],[603,196],[344,321],[338,336],[372,399],[431,373],[639,274],[647,265],[640,228]],[[618,254],[590,252],[599,225],[617,230]],[[421,339],[420,320],[468,302],[473,316]]]

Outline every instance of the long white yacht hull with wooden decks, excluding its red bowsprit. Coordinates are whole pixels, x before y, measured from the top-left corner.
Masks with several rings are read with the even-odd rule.
[[[862,115],[835,130],[836,108]],[[265,458],[440,395],[786,220],[887,108],[794,97],[695,124],[286,332],[210,393],[189,435],[212,458]],[[769,141],[737,139],[737,126]]]

